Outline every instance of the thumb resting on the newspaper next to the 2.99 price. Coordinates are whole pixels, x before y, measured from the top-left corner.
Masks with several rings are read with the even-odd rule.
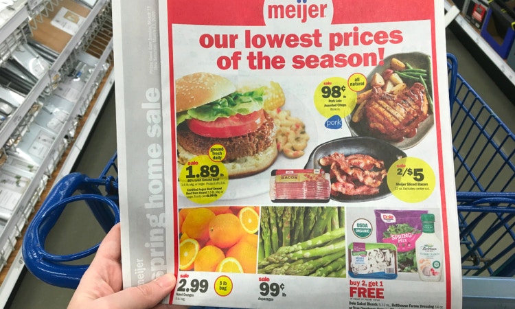
[[[102,301],[116,308],[139,309],[152,308],[172,292],[176,279],[172,274],[165,274],[141,286],[126,288],[118,293],[103,297]]]

